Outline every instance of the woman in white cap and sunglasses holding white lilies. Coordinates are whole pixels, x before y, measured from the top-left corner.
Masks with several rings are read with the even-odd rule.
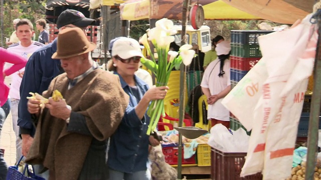
[[[108,151],[109,178],[113,180],[151,179],[147,170],[148,144],[159,141],[146,131],[149,117],[146,114],[151,100],[164,99],[168,86],[152,87],[134,73],[143,57],[137,40],[127,37],[116,39],[111,48],[112,63],[108,70],[119,75],[121,86],[129,95],[122,122],[110,138]]]

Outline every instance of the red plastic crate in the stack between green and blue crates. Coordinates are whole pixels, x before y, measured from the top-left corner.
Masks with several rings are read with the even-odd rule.
[[[261,57],[238,57],[231,55],[231,68],[248,71],[260,60],[260,58]]]

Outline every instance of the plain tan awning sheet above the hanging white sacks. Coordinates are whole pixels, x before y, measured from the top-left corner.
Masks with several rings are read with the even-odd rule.
[[[315,0],[222,0],[247,13],[279,23],[292,24],[312,12]]]

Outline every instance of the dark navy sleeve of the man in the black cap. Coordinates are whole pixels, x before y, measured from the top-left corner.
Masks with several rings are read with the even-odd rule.
[[[33,124],[32,116],[27,110],[29,92],[39,92],[40,82],[42,78],[42,71],[40,67],[40,51],[34,52],[26,65],[25,73],[20,85],[20,102],[18,108],[18,125],[22,134],[30,134],[33,136],[35,126]]]

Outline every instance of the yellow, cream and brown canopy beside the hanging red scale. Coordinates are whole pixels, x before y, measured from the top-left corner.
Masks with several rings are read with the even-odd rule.
[[[192,0],[194,5],[197,0]],[[262,19],[239,10],[222,0],[199,0],[203,5],[205,19]],[[123,20],[139,20],[148,18],[182,18],[182,0],[127,0],[120,4],[120,17]]]

